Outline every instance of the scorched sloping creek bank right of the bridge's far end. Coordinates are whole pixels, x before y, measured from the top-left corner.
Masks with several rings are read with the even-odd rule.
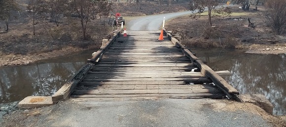
[[[265,8],[259,7],[259,11],[243,11],[238,5],[229,8],[231,16],[213,18],[212,29],[207,27],[207,13],[197,19],[188,15],[176,17],[168,21],[165,28],[181,36],[181,43],[187,47],[235,48],[254,54],[286,53],[286,35],[277,35],[269,27]],[[248,18],[255,29],[248,27]]]

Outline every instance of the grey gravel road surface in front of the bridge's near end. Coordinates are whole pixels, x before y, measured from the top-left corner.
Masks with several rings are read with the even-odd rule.
[[[22,127],[271,127],[260,115],[251,112],[257,107],[243,105],[239,109],[241,104],[212,99],[92,101],[81,98],[31,109],[18,114],[26,116],[25,120],[10,119],[7,123],[16,122]]]

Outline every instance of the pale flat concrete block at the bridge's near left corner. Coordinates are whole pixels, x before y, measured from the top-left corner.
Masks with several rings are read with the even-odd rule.
[[[52,96],[28,96],[19,102],[18,107],[39,108],[53,104]]]

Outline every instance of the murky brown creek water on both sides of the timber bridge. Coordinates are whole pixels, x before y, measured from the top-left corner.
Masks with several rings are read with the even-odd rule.
[[[53,95],[94,52],[86,51],[36,64],[0,68],[0,103],[30,95]],[[286,54],[256,55],[237,50],[192,49],[216,70],[229,70],[225,77],[241,94],[265,95],[275,115],[286,115]]]

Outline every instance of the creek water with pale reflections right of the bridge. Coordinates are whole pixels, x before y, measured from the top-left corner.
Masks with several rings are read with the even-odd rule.
[[[257,55],[230,50],[192,50],[216,70],[229,70],[226,81],[241,94],[262,94],[274,105],[273,114],[286,115],[286,54]]]

